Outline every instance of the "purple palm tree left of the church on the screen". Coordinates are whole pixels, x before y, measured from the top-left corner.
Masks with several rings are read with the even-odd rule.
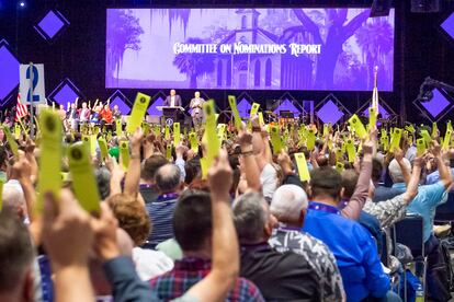
[[[201,38],[189,38],[188,44],[203,44]],[[173,60],[180,73],[185,73],[190,80],[190,88],[197,88],[197,77],[215,70],[214,56],[206,54],[179,54]]]

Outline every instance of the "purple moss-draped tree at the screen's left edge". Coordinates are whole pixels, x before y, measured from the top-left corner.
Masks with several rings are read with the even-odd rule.
[[[109,10],[106,68],[109,74],[116,72],[118,79],[123,56],[126,49],[140,50],[140,35],[144,30],[139,25],[139,20],[134,16],[132,10]],[[107,79],[112,80],[112,77]],[[111,86],[112,83],[109,84]]]

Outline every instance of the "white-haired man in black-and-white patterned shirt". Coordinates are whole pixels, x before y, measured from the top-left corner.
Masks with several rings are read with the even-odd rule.
[[[321,241],[302,231],[307,212],[307,195],[296,185],[283,185],[271,201],[271,213],[279,220],[269,244],[279,252],[304,256],[317,272],[322,301],[342,301],[344,290],[336,258]]]

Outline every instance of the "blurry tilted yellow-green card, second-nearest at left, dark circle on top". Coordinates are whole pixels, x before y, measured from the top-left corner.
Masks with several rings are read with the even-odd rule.
[[[101,198],[88,149],[77,142],[69,148],[68,158],[76,198],[86,211],[99,213]]]

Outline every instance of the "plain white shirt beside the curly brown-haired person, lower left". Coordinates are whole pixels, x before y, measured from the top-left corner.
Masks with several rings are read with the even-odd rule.
[[[173,260],[160,251],[134,247],[133,260],[136,264],[136,271],[143,281],[173,269]]]

